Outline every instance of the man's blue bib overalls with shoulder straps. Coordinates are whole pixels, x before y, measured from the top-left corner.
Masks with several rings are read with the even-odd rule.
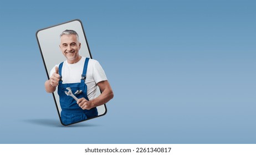
[[[62,84],[62,79],[60,79],[59,81],[58,94],[60,99],[60,107],[62,107],[62,112],[60,113],[60,116],[62,118],[62,123],[65,125],[83,121],[90,117],[98,116],[98,110],[96,107],[91,108],[90,110],[83,110],[81,107],[79,107],[73,97],[65,94],[65,91],[68,91],[66,90],[66,87],[70,87],[73,94],[77,90],[82,90],[80,94],[76,94],[75,96],[78,97],[78,99],[84,97],[86,100],[89,101],[87,96],[87,85],[85,84],[88,61],[89,58],[86,58],[80,83]],[[62,77],[62,66],[63,62],[59,65],[60,77]]]

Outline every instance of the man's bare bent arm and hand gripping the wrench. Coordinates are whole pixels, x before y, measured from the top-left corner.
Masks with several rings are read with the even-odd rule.
[[[83,108],[83,110],[90,110],[93,107],[104,105],[114,97],[109,81],[100,81],[97,85],[102,92],[98,97],[90,101],[87,101],[84,97],[78,99],[77,103],[81,108]]]

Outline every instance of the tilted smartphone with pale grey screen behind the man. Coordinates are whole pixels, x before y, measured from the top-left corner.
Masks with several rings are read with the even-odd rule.
[[[79,55],[81,55],[85,58],[92,59],[90,49],[88,46],[88,42],[85,37],[83,24],[81,23],[80,20],[75,19],[75,20],[71,20],[66,23],[62,23],[62,24],[54,25],[52,27],[40,29],[37,31],[36,37],[37,37],[40,53],[42,55],[42,59],[43,59],[43,63],[45,66],[48,80],[50,77],[50,71],[54,68],[54,66],[58,65],[66,60],[65,56],[63,55],[62,51],[60,50],[60,34],[62,34],[62,32],[67,29],[74,30],[79,36],[79,42],[81,43]],[[65,90],[65,91],[68,91],[68,90]],[[75,92],[73,92],[73,94],[74,93]],[[98,111],[97,116],[93,116],[93,117],[89,117],[89,118],[81,118],[78,121],[75,120],[75,121],[71,121],[71,122],[65,122],[64,118],[62,118],[62,115],[61,115],[62,105],[60,104],[60,96],[58,95],[58,86],[57,86],[57,89],[52,94],[53,94],[53,99],[54,99],[55,105],[57,107],[60,122],[64,126],[71,125],[73,123],[82,122],[85,120],[89,120],[91,118],[103,116],[106,113],[106,105],[104,104],[104,105],[96,107],[96,110]],[[97,86],[96,96],[99,96],[100,94],[101,94],[100,89]]]

